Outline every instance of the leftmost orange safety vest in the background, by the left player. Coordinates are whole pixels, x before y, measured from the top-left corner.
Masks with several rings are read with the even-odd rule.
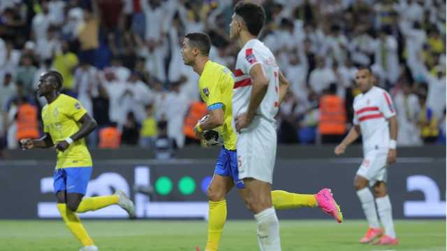
[[[38,138],[37,108],[29,103],[24,103],[17,109],[17,132],[15,138]]]

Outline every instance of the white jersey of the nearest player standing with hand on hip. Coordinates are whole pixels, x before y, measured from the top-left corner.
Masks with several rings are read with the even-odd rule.
[[[249,108],[251,96],[250,70],[261,64],[265,76],[269,79],[267,93],[261,102],[256,115],[274,122],[279,106],[279,68],[272,52],[258,39],[248,41],[239,54],[235,69],[235,85],[233,90],[233,117],[244,113]]]

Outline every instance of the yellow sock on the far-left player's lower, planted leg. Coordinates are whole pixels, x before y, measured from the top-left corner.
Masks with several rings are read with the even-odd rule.
[[[64,203],[57,203],[57,209],[59,210],[59,213],[61,213],[62,219],[64,219],[68,229],[70,229],[73,236],[75,236],[83,246],[94,245],[76,213],[73,213],[68,209]]]

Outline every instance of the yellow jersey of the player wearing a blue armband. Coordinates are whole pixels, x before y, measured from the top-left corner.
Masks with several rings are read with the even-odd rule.
[[[223,124],[217,129],[223,138],[227,150],[236,150],[237,136],[233,129],[231,101],[233,99],[233,73],[228,68],[208,60],[198,80],[200,96],[207,104],[208,110],[221,108]]]

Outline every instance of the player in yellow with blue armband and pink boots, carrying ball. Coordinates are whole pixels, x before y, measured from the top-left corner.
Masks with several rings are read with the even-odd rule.
[[[186,34],[181,50],[184,64],[191,66],[193,71],[200,76],[198,80],[200,96],[208,108],[208,119],[198,122],[194,131],[199,138],[203,138],[204,131],[219,129],[223,138],[223,147],[217,159],[214,176],[207,189],[210,209],[205,251],[214,251],[219,247],[223,224],[226,222],[226,194],[236,186],[247,205],[250,199],[244,182],[239,178],[237,167],[237,135],[233,128],[232,117],[235,80],[230,70],[210,60],[210,47],[211,41],[207,34],[190,33]],[[282,79],[282,81],[286,80]],[[276,209],[318,206],[326,213],[330,213],[328,204],[332,206],[335,204],[329,189],[322,189],[318,194],[294,194],[275,190],[272,191],[271,196],[272,204]],[[338,222],[342,221],[341,213],[332,216]]]

